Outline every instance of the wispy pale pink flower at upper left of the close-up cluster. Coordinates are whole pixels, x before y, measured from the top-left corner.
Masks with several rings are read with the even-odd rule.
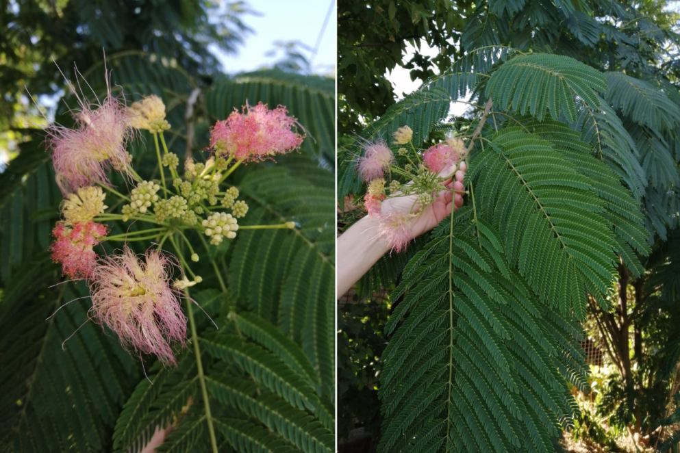
[[[125,102],[109,94],[101,105],[80,103],[74,129],[47,129],[57,183],[64,195],[87,185],[110,185],[110,168],[125,174],[130,170],[125,150],[132,132]]]

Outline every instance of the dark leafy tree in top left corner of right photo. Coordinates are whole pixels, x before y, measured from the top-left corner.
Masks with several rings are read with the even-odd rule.
[[[396,66],[412,69],[412,79],[427,79],[448,68],[456,57],[473,2],[448,0],[338,1],[338,132],[359,132],[394,103],[386,73]],[[421,40],[439,54],[420,53]],[[403,64],[407,45],[416,51]],[[360,118],[363,118],[361,120]]]

